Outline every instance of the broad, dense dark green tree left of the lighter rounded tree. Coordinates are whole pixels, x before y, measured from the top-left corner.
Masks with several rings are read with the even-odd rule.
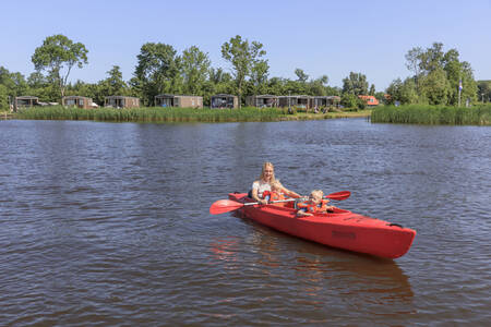
[[[131,84],[141,89],[146,105],[153,104],[154,97],[164,92],[180,92],[180,58],[172,46],[147,43],[136,58],[139,63],[134,75],[137,81],[133,80]]]

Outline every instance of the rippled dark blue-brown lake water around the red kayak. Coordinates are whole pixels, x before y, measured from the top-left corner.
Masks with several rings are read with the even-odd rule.
[[[491,129],[0,122],[0,325],[491,323]],[[209,205],[263,161],[418,231],[380,259]]]

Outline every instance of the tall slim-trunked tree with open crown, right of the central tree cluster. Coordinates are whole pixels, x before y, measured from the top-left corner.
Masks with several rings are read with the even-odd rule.
[[[230,38],[230,41],[221,46],[221,57],[229,61],[233,68],[233,77],[239,93],[239,108],[241,108],[246,77],[250,75],[251,69],[259,58],[266,55],[266,51],[262,48],[262,44],[258,41],[249,44],[249,40],[242,40],[240,35]]]

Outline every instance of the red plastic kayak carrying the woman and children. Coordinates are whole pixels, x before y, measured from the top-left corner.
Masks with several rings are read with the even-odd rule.
[[[246,193],[230,193],[228,197],[242,204],[252,202]],[[416,237],[412,229],[339,208],[334,213],[297,217],[290,202],[246,205],[238,211],[243,217],[298,238],[386,258],[405,255]]]

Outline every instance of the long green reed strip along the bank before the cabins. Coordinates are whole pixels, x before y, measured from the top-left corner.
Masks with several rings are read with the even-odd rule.
[[[192,109],[192,108],[132,108],[80,109],[36,107],[20,111],[19,119],[91,120],[109,122],[237,122],[278,121],[287,116],[285,109]]]

